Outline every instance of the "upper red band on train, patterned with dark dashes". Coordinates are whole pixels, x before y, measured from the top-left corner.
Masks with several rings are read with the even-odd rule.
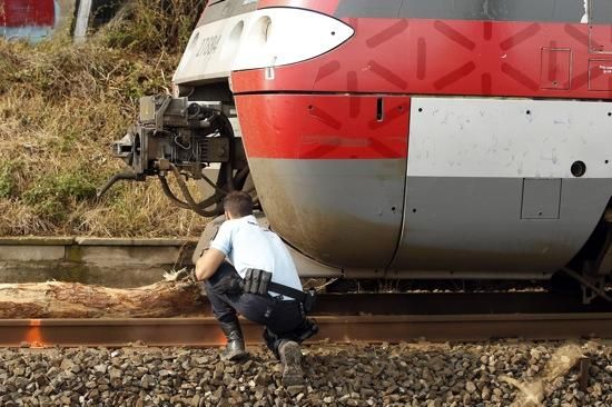
[[[383,92],[416,95],[612,98],[590,60],[612,61],[608,26],[347,19],[356,34],[308,61],[233,73],[236,93],[259,91]],[[612,30],[612,28],[610,28]],[[605,30],[604,30],[605,31]],[[608,31],[605,31],[608,33]],[[591,34],[591,43],[590,43]],[[600,43],[600,42],[605,43]],[[591,76],[591,78],[590,78]],[[611,75],[612,76],[612,75]]]

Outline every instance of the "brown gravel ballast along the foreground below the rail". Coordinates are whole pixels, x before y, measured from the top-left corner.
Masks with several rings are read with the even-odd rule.
[[[606,341],[309,345],[306,385],[288,388],[249,350],[229,364],[219,349],[2,349],[0,406],[612,406]]]

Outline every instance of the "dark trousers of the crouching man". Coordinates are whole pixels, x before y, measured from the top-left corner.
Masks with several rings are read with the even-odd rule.
[[[295,300],[280,300],[256,294],[225,292],[227,279],[239,278],[228,262],[221,264],[215,275],[205,281],[206,294],[213,312],[220,322],[237,321],[237,312],[246,319],[263,325],[264,339],[268,348],[278,357],[278,346],[283,340],[300,341],[300,336],[309,324]]]

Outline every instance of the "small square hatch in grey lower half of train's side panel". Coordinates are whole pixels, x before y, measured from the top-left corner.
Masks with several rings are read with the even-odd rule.
[[[524,179],[521,219],[559,219],[561,179]]]

